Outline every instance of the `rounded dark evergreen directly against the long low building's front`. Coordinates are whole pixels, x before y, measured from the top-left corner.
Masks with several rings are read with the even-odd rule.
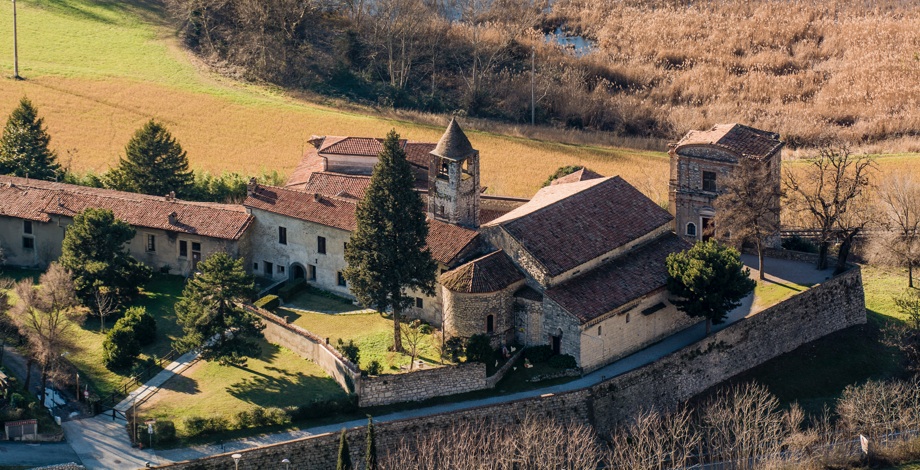
[[[67,227],[60,263],[73,273],[77,296],[92,305],[95,293],[105,289],[119,304],[138,293],[150,279],[150,268],[125,248],[134,229],[108,209],[86,209]]]

